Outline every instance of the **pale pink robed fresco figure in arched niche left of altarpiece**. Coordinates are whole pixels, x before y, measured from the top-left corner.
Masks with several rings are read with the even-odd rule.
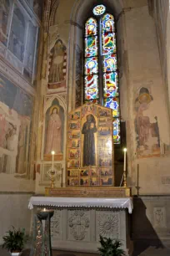
[[[55,151],[55,154],[61,153],[62,146],[62,121],[60,116],[57,114],[57,108],[52,109],[52,114],[50,115],[47,124],[47,141],[45,154],[51,154]]]

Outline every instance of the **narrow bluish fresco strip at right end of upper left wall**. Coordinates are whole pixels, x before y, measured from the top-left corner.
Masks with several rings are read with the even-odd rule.
[[[23,70],[23,74],[27,79],[32,79],[36,39],[37,39],[37,27],[33,26],[32,23],[29,23],[28,40],[27,40],[27,45],[25,50],[24,70]]]

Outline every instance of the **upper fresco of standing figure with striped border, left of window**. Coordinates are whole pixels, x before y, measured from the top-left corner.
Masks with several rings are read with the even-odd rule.
[[[67,52],[61,39],[58,39],[52,48],[49,59],[48,89],[65,88]]]

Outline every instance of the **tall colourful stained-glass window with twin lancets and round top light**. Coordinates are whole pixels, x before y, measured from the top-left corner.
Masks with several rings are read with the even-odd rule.
[[[120,144],[115,19],[102,4],[94,7],[92,13],[84,31],[84,101],[112,109],[113,141]]]

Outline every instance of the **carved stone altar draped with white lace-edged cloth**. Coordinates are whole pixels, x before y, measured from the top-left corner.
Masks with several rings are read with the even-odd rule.
[[[129,255],[131,197],[31,197],[28,207],[35,212],[38,208],[54,209],[51,219],[54,249],[96,253],[102,235],[120,239]]]

